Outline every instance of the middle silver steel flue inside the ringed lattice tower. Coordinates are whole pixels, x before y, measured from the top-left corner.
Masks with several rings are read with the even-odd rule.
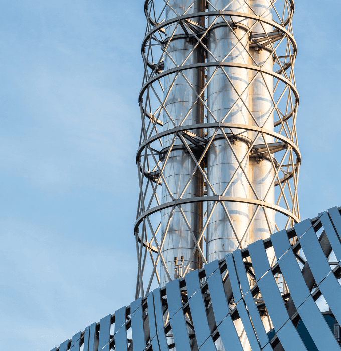
[[[248,6],[244,0],[232,2],[230,0],[210,1],[208,11],[215,11],[216,9],[248,13]],[[208,48],[212,53],[212,55],[208,54],[208,62],[222,61],[225,63],[248,64],[248,36],[245,35],[247,19],[236,17],[232,18],[233,21],[231,21],[229,16],[226,16],[225,19],[231,28],[222,17],[209,17],[208,26],[212,23],[213,25],[208,34]],[[207,93],[208,107],[213,116],[208,113],[208,123],[218,121],[248,125],[249,112],[246,107],[248,104],[248,93],[246,91],[249,83],[248,70],[242,67],[218,68],[216,72],[215,70],[216,67],[208,67],[208,79],[210,80],[213,75],[208,85]],[[243,101],[239,99],[239,95],[241,95]],[[231,185],[224,193],[226,186],[239,166],[238,161],[241,161],[248,152],[249,144],[245,134],[237,137],[233,135],[241,132],[242,130],[233,128],[227,132],[238,160],[234,156],[229,142],[224,138],[220,130],[216,133],[208,151],[208,180],[217,195],[235,198],[249,197],[249,184],[241,168],[239,168]],[[213,134],[214,129],[209,128],[208,140],[213,137]],[[245,173],[248,174],[248,157],[243,161],[242,167]],[[210,187],[208,187],[207,195],[214,195]],[[214,206],[213,202],[207,202],[207,213],[210,213],[212,206]],[[244,233],[249,223],[249,205],[241,202],[225,202],[225,206],[231,217],[236,234],[224,208],[221,204],[218,204],[207,226],[206,258],[208,262],[221,259],[228,252],[237,249],[238,240],[236,235],[242,242],[247,242],[248,240],[247,234],[244,236]]]

